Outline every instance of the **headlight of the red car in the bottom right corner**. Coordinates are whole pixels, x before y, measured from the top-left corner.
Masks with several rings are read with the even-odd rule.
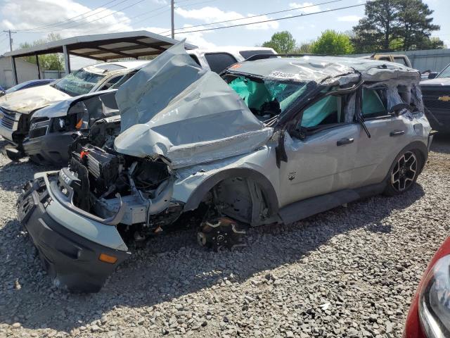
[[[450,255],[439,259],[425,277],[419,318],[428,338],[450,337]]]

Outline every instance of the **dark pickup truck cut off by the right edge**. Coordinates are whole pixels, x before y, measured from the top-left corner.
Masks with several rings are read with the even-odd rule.
[[[433,130],[450,132],[450,65],[434,79],[420,82],[420,88]]]

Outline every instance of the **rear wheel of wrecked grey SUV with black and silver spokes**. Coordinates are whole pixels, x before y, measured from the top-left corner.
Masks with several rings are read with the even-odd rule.
[[[383,194],[397,196],[407,192],[416,183],[422,168],[423,157],[420,151],[416,149],[402,151],[391,165]]]

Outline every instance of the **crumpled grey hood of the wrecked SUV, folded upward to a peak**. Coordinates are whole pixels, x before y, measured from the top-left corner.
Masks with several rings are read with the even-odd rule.
[[[116,94],[122,133],[115,150],[165,158],[181,168],[248,153],[265,144],[265,127],[224,80],[172,46]]]

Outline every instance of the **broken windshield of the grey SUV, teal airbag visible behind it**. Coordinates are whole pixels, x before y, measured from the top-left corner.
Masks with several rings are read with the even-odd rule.
[[[224,80],[259,120],[282,115],[307,89],[307,82],[286,82],[245,75],[225,75]]]

